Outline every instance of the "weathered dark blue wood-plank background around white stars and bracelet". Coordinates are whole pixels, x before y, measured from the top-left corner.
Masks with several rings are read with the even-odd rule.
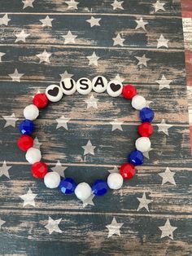
[[[0,120],[0,161],[6,160],[11,179],[0,178],[0,217],[7,221],[0,232],[2,255],[190,255],[191,247],[191,171],[190,131],[185,86],[185,56],[182,35],[181,7],[178,1],[166,1],[166,11],[154,13],[155,1],[124,1],[124,10],[112,10],[111,1],[82,1],[77,11],[67,10],[63,1],[35,1],[34,8],[22,10],[20,1],[1,2],[1,12],[11,16],[9,26],[0,27],[0,51],[6,58],[0,68],[1,116],[11,115],[22,120],[23,108],[31,102],[38,89],[58,83],[65,69],[78,77],[104,74],[108,79],[117,73],[124,83],[137,86],[146,99],[153,101],[155,125],[163,118],[172,125],[169,136],[158,132],[152,139],[150,159],[137,168],[137,176],[124,183],[117,192],[94,198],[94,206],[82,207],[74,196],[50,191],[33,179],[24,153],[15,145],[19,132]],[[89,8],[88,8],[89,7]],[[90,9],[92,8],[92,13]],[[93,14],[101,17],[101,27],[90,28],[85,22]],[[3,13],[2,13],[3,14]],[[40,19],[50,15],[53,28],[42,28]],[[135,20],[147,20],[146,32],[135,30]],[[15,42],[15,33],[26,29],[30,36],[25,43]],[[68,30],[77,35],[75,45],[64,45],[62,35]],[[113,46],[117,33],[122,33],[124,46]],[[156,49],[163,33],[170,40],[169,48]],[[50,64],[39,64],[37,54],[52,53]],[[100,57],[98,67],[89,66],[87,55],[95,51]],[[137,66],[136,55],[151,58],[147,68]],[[21,82],[11,82],[9,73],[18,68],[24,73]],[[170,90],[159,90],[162,75],[173,80]],[[94,94],[94,93],[93,93]],[[98,109],[86,108],[83,95],[63,97],[50,104],[36,121],[38,139],[42,143],[43,159],[49,166],[60,160],[66,176],[76,182],[92,183],[107,177],[107,170],[126,160],[137,138],[137,113],[123,98],[111,99],[107,94],[96,95]],[[68,130],[55,130],[55,119],[70,117]],[[124,121],[123,131],[111,132],[109,121]],[[19,123],[19,121],[17,122]],[[94,156],[83,156],[81,146],[87,140],[96,146]],[[176,186],[161,185],[159,176],[166,167],[176,174]],[[28,188],[37,193],[36,206],[25,206],[20,195]],[[137,197],[146,192],[153,200],[150,212],[137,211]],[[45,228],[48,216],[62,218],[63,233],[49,235]],[[107,239],[107,224],[112,217],[120,223],[121,236]],[[169,218],[177,227],[174,240],[160,238],[159,226]]]

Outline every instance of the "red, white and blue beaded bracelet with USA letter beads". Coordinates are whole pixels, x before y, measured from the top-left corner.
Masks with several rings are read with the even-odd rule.
[[[63,95],[72,95],[75,91],[81,95],[87,95],[91,90],[102,93],[107,90],[108,95],[117,97],[123,95],[125,99],[132,99],[133,108],[140,111],[139,115],[142,124],[138,126],[138,133],[141,135],[135,142],[136,149],[128,156],[128,162],[120,166],[120,173],[111,173],[108,175],[107,182],[103,179],[97,179],[90,187],[88,183],[79,183],[76,185],[71,178],[61,179],[60,175],[55,171],[48,172],[48,166],[41,161],[41,152],[37,148],[33,148],[32,135],[35,130],[33,121],[39,115],[39,109],[46,108],[48,102],[57,102]],[[25,151],[26,160],[32,164],[33,177],[44,179],[47,188],[58,188],[63,194],[76,194],[81,201],[85,201],[92,196],[102,196],[108,188],[119,189],[123,185],[124,179],[132,179],[136,173],[135,166],[142,165],[144,161],[143,152],[151,149],[151,140],[149,137],[153,134],[153,126],[151,121],[155,114],[151,108],[146,107],[146,99],[141,95],[137,95],[137,90],[132,85],[125,85],[120,81],[112,80],[107,82],[103,76],[94,77],[91,82],[88,78],[82,77],[77,82],[72,78],[65,78],[60,82],[60,86],[50,85],[46,88],[46,93],[39,93],[33,97],[33,104],[24,108],[24,121],[20,123],[21,136],[18,139],[18,146]]]

